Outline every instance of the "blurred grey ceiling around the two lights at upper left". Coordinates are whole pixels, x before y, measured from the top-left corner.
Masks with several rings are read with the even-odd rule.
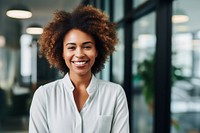
[[[17,25],[21,26],[22,33],[25,33],[26,27],[32,24],[39,24],[43,27],[52,19],[53,13],[56,10],[70,11],[79,5],[81,1],[82,0],[0,0],[0,35],[12,35],[12,32],[17,31],[15,29]],[[7,9],[16,4],[27,6],[33,13],[32,18],[24,20],[8,18],[6,16]]]

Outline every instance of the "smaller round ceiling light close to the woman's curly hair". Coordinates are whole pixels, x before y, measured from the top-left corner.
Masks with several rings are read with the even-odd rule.
[[[40,35],[43,32],[43,28],[37,24],[34,24],[34,25],[30,25],[26,29],[26,32],[31,35]]]

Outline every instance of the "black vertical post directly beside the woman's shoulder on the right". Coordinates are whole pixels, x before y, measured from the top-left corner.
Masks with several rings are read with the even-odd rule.
[[[132,0],[126,0],[124,2],[124,14],[128,14],[132,10]],[[133,34],[132,21],[128,20],[124,24],[124,90],[126,92],[128,107],[129,107],[129,121],[130,132],[132,132],[132,34]]]

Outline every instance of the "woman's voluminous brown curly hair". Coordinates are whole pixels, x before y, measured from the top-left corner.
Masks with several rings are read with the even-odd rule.
[[[118,42],[116,25],[108,16],[92,6],[78,6],[73,12],[57,11],[54,19],[44,28],[38,43],[40,55],[45,55],[51,67],[64,73],[69,71],[63,59],[63,38],[71,29],[79,29],[92,35],[95,40],[98,56],[91,68],[97,73],[104,68],[108,56],[115,50]]]

